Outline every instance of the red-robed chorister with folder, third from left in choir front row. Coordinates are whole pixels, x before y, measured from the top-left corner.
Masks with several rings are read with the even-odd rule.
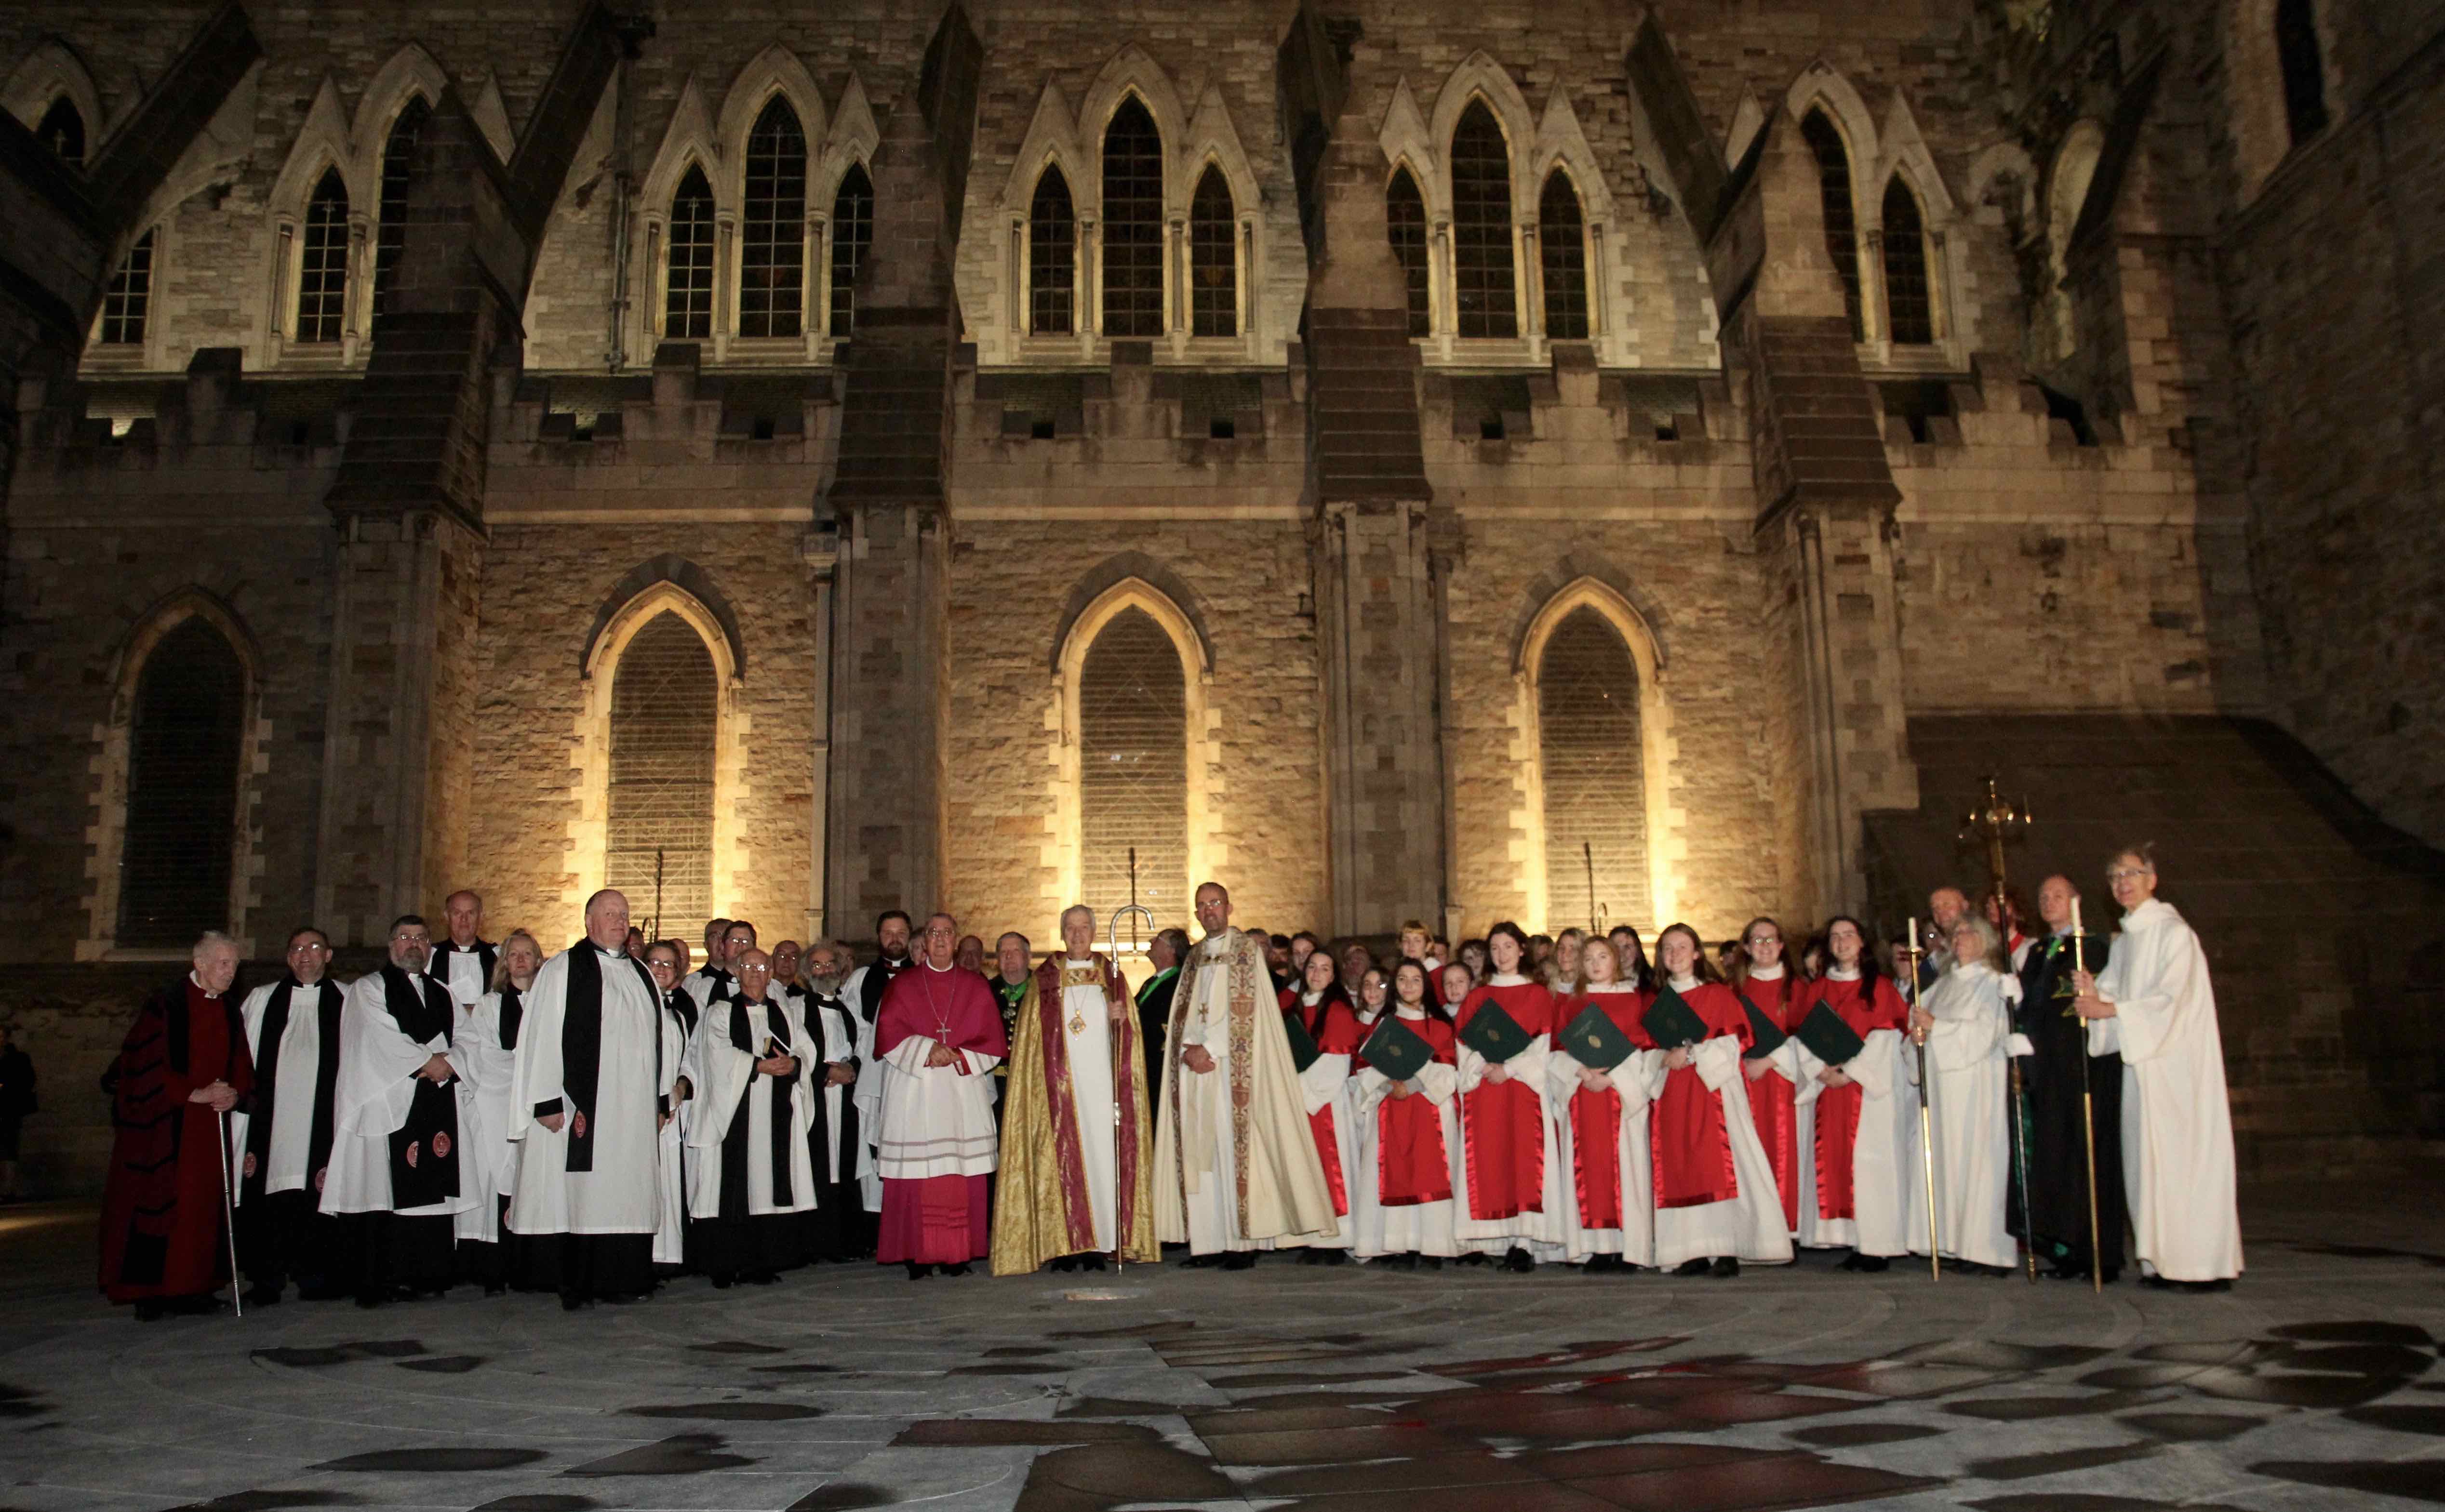
[[[1467,1175],[1467,1209],[1460,1214],[1460,1248],[1501,1256],[1509,1270],[1535,1270],[1531,1246],[1560,1256],[1555,1192],[1560,1170],[1553,1116],[1545,1107],[1545,1048],[1553,1041],[1553,992],[1528,977],[1528,936],[1504,921],[1487,931],[1491,975],[1460,1004],[1460,1141]],[[1469,1023],[1499,1006],[1528,1036],[1501,1063],[1469,1048]]]

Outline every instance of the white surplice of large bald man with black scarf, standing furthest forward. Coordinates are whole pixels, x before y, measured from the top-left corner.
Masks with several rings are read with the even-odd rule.
[[[567,1021],[570,955],[594,950],[601,980],[601,1055],[594,1075],[594,1170],[570,1170],[570,1129],[577,1102],[567,1092],[562,1026]],[[623,950],[577,940],[543,962],[526,994],[518,1028],[518,1080],[511,1109],[518,1119],[518,1180],[509,1202],[511,1234],[653,1234],[660,1224],[655,1148],[663,1097],[680,1067],[655,1065],[663,1048],[660,1004],[653,984]],[[535,1116],[535,1104],[557,1104],[555,1133]]]

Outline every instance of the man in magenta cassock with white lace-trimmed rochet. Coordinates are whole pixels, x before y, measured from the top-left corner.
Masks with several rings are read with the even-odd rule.
[[[993,1251],[985,1177],[1000,1155],[993,1067],[1010,1053],[985,977],[956,962],[958,921],[924,923],[924,958],[892,977],[875,1014],[883,1116],[883,1238],[875,1260],[910,1280],[968,1275]]]

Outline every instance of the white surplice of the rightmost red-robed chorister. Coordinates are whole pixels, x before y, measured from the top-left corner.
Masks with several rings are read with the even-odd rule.
[[[1858,982],[1858,967],[1831,967],[1826,980]],[[1919,1168],[1917,1082],[1902,1067],[1914,1055],[1900,1028],[1873,1028],[1844,1063],[1858,1082],[1858,1131],[1851,1136],[1851,1214],[1829,1219],[1817,1209],[1817,1094],[1826,1063],[1800,1036],[1800,1234],[1804,1248],[1856,1248],[1863,1256],[1910,1253],[1910,1182]],[[1919,1234],[1927,1234],[1924,1216]]]

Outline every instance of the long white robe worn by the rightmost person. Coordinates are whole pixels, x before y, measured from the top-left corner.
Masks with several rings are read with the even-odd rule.
[[[2242,1273],[2242,1216],[2225,1050],[2208,955],[2171,904],[2122,916],[2098,994],[2115,1016],[2088,1023],[2088,1053],[2122,1053],[2122,1190],[2139,1265],[2166,1280],[2230,1280]]]

